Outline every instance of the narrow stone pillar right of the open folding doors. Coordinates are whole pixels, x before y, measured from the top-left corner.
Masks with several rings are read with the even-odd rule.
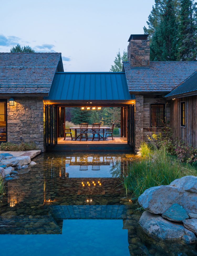
[[[137,151],[140,148],[140,143],[143,142],[143,103],[144,96],[136,95],[135,110],[134,110],[134,143]]]

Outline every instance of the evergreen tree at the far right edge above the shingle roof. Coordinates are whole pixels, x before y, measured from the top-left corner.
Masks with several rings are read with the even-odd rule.
[[[194,61],[197,55],[196,4],[194,0],[182,0],[179,25],[178,60]]]

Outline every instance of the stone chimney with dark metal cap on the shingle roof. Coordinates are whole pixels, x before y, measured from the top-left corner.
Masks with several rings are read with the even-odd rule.
[[[131,35],[127,47],[128,61],[131,67],[149,67],[150,45],[148,35]]]

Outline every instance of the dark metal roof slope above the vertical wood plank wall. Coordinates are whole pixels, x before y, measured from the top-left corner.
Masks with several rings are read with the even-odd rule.
[[[173,96],[180,98],[183,96],[197,95],[197,72],[194,72],[190,77],[188,77],[183,83],[178,85],[174,90],[172,90],[165,97]]]

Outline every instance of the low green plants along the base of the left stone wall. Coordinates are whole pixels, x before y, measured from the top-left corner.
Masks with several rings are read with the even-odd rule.
[[[34,142],[30,142],[30,143],[22,142],[21,144],[2,142],[0,144],[0,150],[4,150],[4,151],[28,151],[28,150],[34,150],[34,149],[37,149],[37,146]]]

